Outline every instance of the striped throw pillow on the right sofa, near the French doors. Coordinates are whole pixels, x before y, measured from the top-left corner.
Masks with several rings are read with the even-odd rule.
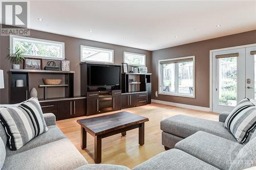
[[[228,115],[224,125],[238,142],[247,143],[256,127],[256,106],[249,99],[243,99]]]

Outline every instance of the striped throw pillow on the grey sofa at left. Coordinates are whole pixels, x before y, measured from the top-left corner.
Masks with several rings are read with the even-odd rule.
[[[34,137],[48,131],[36,98],[17,105],[0,106],[0,122],[5,127],[10,150],[22,148]]]

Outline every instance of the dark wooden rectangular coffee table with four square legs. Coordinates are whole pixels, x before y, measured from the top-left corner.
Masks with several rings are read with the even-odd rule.
[[[101,139],[126,131],[139,128],[139,144],[144,144],[144,122],[148,118],[129,112],[119,112],[92,118],[77,120],[81,125],[81,148],[86,148],[87,132],[94,136],[94,161],[101,162]]]

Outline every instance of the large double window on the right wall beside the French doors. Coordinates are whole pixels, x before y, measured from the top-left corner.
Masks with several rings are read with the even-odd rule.
[[[160,94],[195,98],[195,56],[158,62]]]

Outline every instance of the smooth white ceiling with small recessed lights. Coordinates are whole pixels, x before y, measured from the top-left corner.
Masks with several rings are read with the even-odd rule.
[[[31,29],[150,51],[256,29],[256,1],[31,1],[30,9]]]

